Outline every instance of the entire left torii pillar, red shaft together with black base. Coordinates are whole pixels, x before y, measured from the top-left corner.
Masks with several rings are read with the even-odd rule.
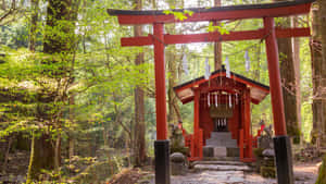
[[[156,103],[156,140],[155,183],[170,184],[170,142],[167,139],[165,60],[164,60],[164,24],[153,24],[153,44],[155,62],[155,103]]]

